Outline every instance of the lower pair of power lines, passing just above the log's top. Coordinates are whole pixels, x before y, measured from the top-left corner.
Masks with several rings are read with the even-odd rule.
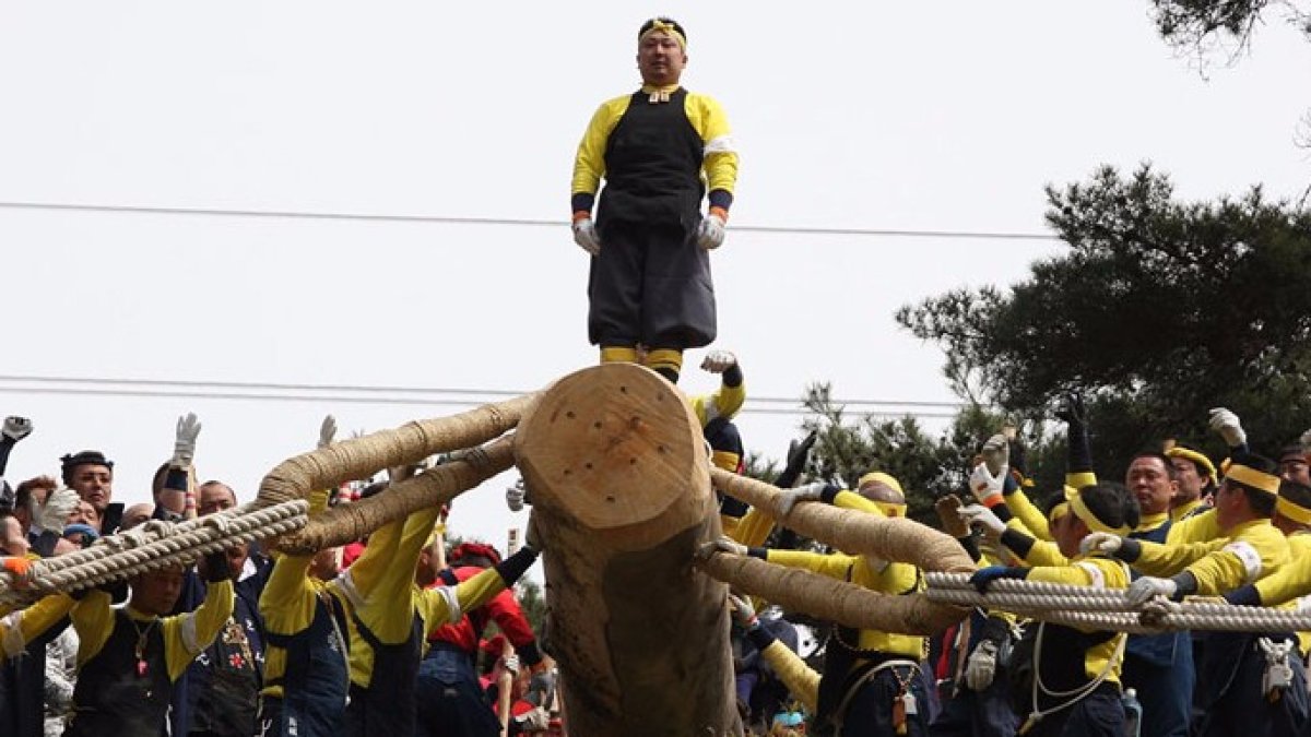
[[[13,386],[4,386],[13,384]],[[37,384],[37,386],[30,386]],[[202,400],[269,400],[269,401],[315,401],[337,404],[375,405],[440,405],[477,407],[507,396],[520,396],[528,391],[514,389],[459,389],[447,387],[371,387],[333,384],[277,384],[250,382],[191,382],[191,380],[151,380],[151,379],[79,379],[68,376],[0,376],[3,393],[42,393],[63,396],[109,396],[109,397],[180,397]],[[367,395],[367,396],[351,396]],[[388,396],[391,395],[391,396]],[[429,395],[429,396],[395,396]],[[435,396],[434,396],[435,395]],[[764,404],[766,407],[751,407]],[[835,405],[846,407],[852,414],[901,417],[914,414],[926,418],[952,418],[954,412],[943,409],[958,408],[952,403],[931,401],[884,401],[884,400],[834,400]],[[789,407],[791,405],[791,407]],[[857,407],[852,409],[852,407]],[[926,407],[939,412],[903,410],[895,408]],[[864,408],[864,409],[860,409]],[[784,397],[749,399],[745,414],[808,416],[809,409],[800,400]]]

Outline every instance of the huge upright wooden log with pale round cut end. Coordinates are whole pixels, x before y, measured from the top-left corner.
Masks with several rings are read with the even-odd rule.
[[[739,734],[726,588],[692,567],[718,535],[700,425],[636,365],[557,382],[515,458],[543,547],[572,737]]]

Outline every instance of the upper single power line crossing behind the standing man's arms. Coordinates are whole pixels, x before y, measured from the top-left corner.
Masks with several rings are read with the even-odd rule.
[[[229,210],[215,207],[161,207],[144,205],[96,205],[68,202],[0,202],[0,210],[46,210],[69,212],[111,212],[119,215],[191,215],[207,218],[262,218],[282,220],[346,220],[358,223],[439,223],[447,226],[510,226],[560,228],[564,219],[461,218],[450,215],[388,215],[378,212],[312,212],[302,210]],[[798,226],[733,226],[734,232],[767,235],[860,236],[860,237],[939,237],[974,240],[1059,241],[1049,233],[1007,231],[952,231],[915,228],[813,228]]]

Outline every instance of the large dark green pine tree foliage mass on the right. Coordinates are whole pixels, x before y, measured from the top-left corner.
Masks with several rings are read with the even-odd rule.
[[[1047,201],[1067,253],[1006,292],[897,312],[943,346],[958,392],[1033,418],[1083,392],[1099,471],[1167,437],[1206,441],[1213,407],[1238,412],[1266,452],[1311,426],[1311,211],[1260,188],[1179,202],[1150,165],[1049,186]]]

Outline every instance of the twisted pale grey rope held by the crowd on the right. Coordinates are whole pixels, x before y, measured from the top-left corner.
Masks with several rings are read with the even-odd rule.
[[[928,573],[928,598],[954,606],[998,608],[1071,627],[1131,633],[1179,629],[1227,632],[1301,632],[1311,629],[1311,614],[1290,610],[1230,606],[1213,602],[1147,602],[1130,606],[1125,591],[1038,581],[994,581],[979,594],[966,573]]]

